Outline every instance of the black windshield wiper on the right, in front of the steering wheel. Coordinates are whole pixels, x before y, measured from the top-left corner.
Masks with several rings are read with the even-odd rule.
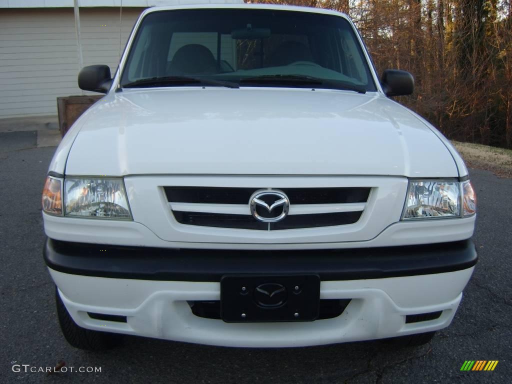
[[[256,83],[256,84],[291,84],[291,85],[319,85],[327,86],[329,88],[355,91],[359,93],[366,93],[366,87],[358,86],[357,84],[347,83],[342,80],[321,79],[313,76],[306,75],[263,75],[246,77],[240,79],[241,83]]]

